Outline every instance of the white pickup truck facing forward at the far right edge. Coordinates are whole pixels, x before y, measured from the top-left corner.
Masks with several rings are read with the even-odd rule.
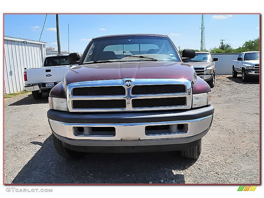
[[[247,82],[250,77],[260,76],[260,52],[246,51],[238,55],[237,60],[232,63],[232,76],[242,74],[242,81]]]

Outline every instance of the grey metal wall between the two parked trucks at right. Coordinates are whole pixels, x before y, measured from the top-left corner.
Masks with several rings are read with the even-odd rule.
[[[216,75],[232,75],[232,61],[236,60],[239,53],[212,53],[215,62]]]

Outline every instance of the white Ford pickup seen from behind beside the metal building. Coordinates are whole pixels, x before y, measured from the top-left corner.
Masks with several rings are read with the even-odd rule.
[[[31,91],[34,99],[40,99],[43,92],[50,90],[64,78],[72,67],[69,54],[53,54],[44,58],[42,67],[25,68],[24,80],[26,91]]]

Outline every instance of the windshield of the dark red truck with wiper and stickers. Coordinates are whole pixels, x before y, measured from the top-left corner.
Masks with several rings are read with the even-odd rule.
[[[112,62],[181,61],[168,37],[144,35],[94,39],[88,45],[83,58],[83,64],[105,60]]]

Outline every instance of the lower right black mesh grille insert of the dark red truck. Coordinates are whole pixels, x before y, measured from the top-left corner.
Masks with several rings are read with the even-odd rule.
[[[146,98],[132,100],[133,108],[184,106],[186,104],[186,97]]]

